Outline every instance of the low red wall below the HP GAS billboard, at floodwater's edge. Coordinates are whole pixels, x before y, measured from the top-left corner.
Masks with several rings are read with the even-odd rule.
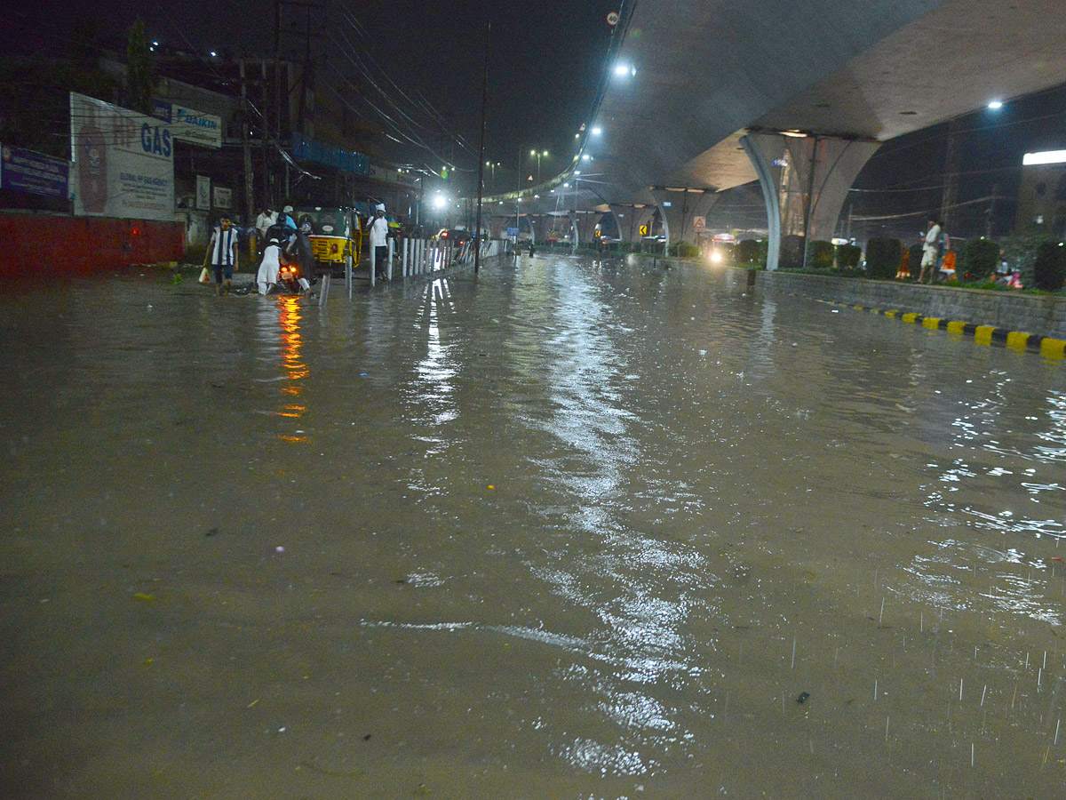
[[[87,273],[184,255],[180,222],[0,214],[0,274]]]

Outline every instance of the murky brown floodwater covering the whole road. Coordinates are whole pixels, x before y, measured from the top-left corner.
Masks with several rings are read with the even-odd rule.
[[[1066,365],[741,271],[0,299],[4,798],[1052,798]]]

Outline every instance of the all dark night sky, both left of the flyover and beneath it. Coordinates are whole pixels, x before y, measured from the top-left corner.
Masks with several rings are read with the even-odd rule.
[[[531,148],[551,154],[542,162],[545,176],[574,155],[574,134],[589,116],[604,68],[611,32],[605,17],[617,0],[321,4],[314,13],[319,23],[312,51],[325,61],[323,77],[346,90],[340,70],[367,87],[367,100],[354,99],[353,107],[404,142],[394,145],[391,155],[397,161],[434,172],[451,162],[458,167],[451,178],[455,191],[469,192],[478,167],[486,22],[491,21],[492,34],[485,157],[502,164],[495,187],[491,173],[486,182],[490,190],[510,190],[518,182],[519,161],[521,177],[535,174]],[[122,47],[127,29],[140,18],[150,38],[174,48],[273,53],[273,0],[83,0],[75,6],[15,0],[5,3],[4,12],[0,33],[19,55],[47,53],[83,38],[78,31],[85,29],[78,18],[95,23],[100,44]],[[295,9],[284,13],[282,50],[289,55],[302,58],[304,18]],[[368,79],[385,90],[387,99]],[[1013,228],[1021,157],[1029,150],[1066,148],[1064,121],[1063,87],[1008,101],[998,112],[976,111],[962,121],[958,198],[979,202],[958,211],[954,233],[984,233],[990,201],[982,198],[994,195],[992,233]],[[922,218],[939,207],[946,138],[947,126],[941,125],[882,148],[859,175],[844,214],[851,210],[857,218],[893,219],[855,222],[853,233],[917,236],[924,226]],[[765,225],[757,190],[732,195],[716,212],[723,217],[720,224]]]

